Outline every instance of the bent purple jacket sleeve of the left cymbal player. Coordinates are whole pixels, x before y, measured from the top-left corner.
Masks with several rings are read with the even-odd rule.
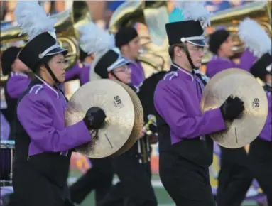
[[[91,141],[83,121],[56,129],[46,102],[36,94],[27,94],[17,108],[18,120],[35,143],[46,152],[67,151]]]

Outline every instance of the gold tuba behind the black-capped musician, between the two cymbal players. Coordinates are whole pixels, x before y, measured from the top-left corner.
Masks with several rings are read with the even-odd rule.
[[[146,77],[155,71],[169,67],[168,41],[164,24],[168,22],[166,1],[126,1],[114,11],[109,22],[109,32],[116,33],[122,26],[143,23],[148,27],[141,30],[141,51],[138,58]]]

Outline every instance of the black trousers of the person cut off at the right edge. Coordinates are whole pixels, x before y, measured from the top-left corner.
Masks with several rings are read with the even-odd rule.
[[[263,193],[272,206],[272,151],[271,142],[255,139],[249,149],[250,168]]]

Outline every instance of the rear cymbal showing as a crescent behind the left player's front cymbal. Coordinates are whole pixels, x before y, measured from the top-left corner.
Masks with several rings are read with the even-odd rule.
[[[129,141],[126,141],[124,146],[122,146],[120,150],[114,153],[113,155],[113,156],[119,156],[121,153],[128,151],[129,148],[131,148],[134,145],[134,143],[136,143],[138,136],[140,136],[141,134],[141,131],[143,129],[143,107],[142,107],[140,99],[138,98],[138,95],[134,92],[134,90],[131,89],[131,87],[129,87],[128,85],[125,85],[124,83],[120,81],[117,81],[117,80],[113,80],[113,81],[121,85],[122,87],[124,87],[126,92],[129,93],[129,96],[131,97],[132,102],[134,103],[134,112],[135,112],[134,126],[129,136]]]

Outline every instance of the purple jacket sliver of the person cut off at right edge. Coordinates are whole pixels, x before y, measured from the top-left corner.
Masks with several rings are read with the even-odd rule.
[[[263,130],[259,137],[265,141],[272,141],[272,112],[271,112],[271,104],[272,104],[272,95],[271,92],[266,91],[266,96],[268,99],[268,116],[266,119],[266,124],[263,126]]]

